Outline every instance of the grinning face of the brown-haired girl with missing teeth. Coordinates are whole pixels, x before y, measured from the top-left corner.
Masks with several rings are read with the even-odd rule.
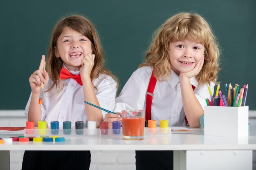
[[[66,27],[57,40],[55,56],[61,57],[69,70],[79,71],[81,60],[88,53],[92,53],[91,41],[81,33]]]

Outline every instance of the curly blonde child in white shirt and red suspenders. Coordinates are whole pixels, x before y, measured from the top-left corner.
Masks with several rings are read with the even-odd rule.
[[[219,68],[217,39],[202,16],[178,13],[155,32],[146,62],[131,75],[116,99],[115,112],[146,109],[146,120],[200,127],[207,84],[213,91]],[[151,100],[151,101],[150,101]],[[114,118],[109,118],[112,121]],[[137,170],[173,169],[172,151],[136,151]]]

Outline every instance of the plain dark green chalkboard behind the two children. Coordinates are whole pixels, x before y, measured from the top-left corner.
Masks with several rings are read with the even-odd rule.
[[[47,53],[56,21],[68,14],[87,16],[96,26],[106,66],[124,86],[142,62],[152,33],[171,15],[193,11],[206,18],[222,48],[224,84],[249,84],[247,105],[256,110],[255,0],[5,0],[0,2],[0,110],[24,109],[29,76]]]

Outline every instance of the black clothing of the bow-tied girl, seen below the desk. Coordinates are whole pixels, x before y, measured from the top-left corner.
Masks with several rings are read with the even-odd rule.
[[[22,170],[89,170],[90,151],[27,151]]]

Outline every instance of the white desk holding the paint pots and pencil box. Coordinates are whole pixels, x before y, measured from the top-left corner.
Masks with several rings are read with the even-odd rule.
[[[230,138],[204,136],[199,133],[172,134],[168,137],[145,137],[144,140],[70,137],[65,142],[13,142],[0,145],[0,157],[8,158],[9,150],[174,150],[174,168],[186,170],[243,169],[252,170],[252,150],[256,150],[256,130],[249,137]],[[0,137],[20,134],[0,134]],[[186,150],[186,153],[183,152]],[[1,159],[0,159],[1,160]],[[6,166],[7,160],[0,166]],[[7,167],[8,168],[8,167]],[[0,169],[2,169],[0,167]]]

